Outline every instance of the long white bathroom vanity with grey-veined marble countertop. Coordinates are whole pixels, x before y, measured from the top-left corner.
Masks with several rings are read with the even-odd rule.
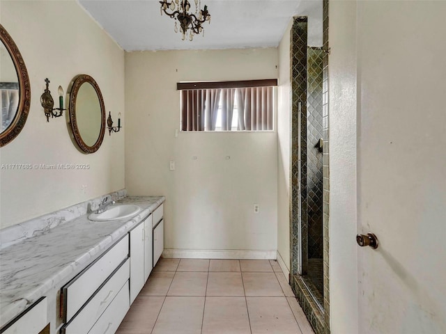
[[[141,210],[91,221],[98,198],[38,218],[34,236],[0,231],[0,333],[115,333],[164,248],[164,197],[116,199]]]

